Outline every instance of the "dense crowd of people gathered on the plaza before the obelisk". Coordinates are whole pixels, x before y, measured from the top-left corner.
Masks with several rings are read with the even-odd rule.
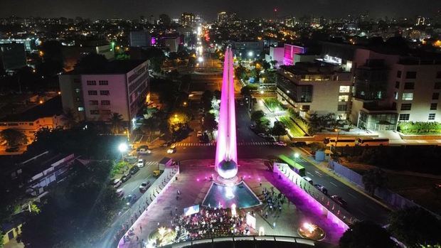
[[[194,215],[175,216],[171,225],[176,231],[175,242],[250,234],[243,215],[231,215],[230,209],[201,208]]]

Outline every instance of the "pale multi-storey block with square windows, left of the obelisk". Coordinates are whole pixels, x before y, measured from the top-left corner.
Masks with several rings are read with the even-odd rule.
[[[102,70],[60,75],[63,108],[87,122],[107,122],[118,113],[130,124],[146,102],[148,71],[148,61],[115,60]]]

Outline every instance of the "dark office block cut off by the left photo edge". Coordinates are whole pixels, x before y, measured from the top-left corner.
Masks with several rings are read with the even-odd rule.
[[[26,51],[23,43],[0,44],[0,68],[6,71],[26,66]]]

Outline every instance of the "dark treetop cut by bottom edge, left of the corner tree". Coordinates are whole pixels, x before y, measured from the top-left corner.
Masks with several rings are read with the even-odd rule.
[[[355,222],[339,241],[340,248],[395,247],[386,229],[368,220]]]

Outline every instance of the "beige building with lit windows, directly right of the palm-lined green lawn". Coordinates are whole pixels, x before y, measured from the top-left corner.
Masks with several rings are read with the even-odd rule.
[[[334,113],[346,119],[351,111],[352,75],[337,65],[297,63],[277,71],[277,99],[308,119]]]

